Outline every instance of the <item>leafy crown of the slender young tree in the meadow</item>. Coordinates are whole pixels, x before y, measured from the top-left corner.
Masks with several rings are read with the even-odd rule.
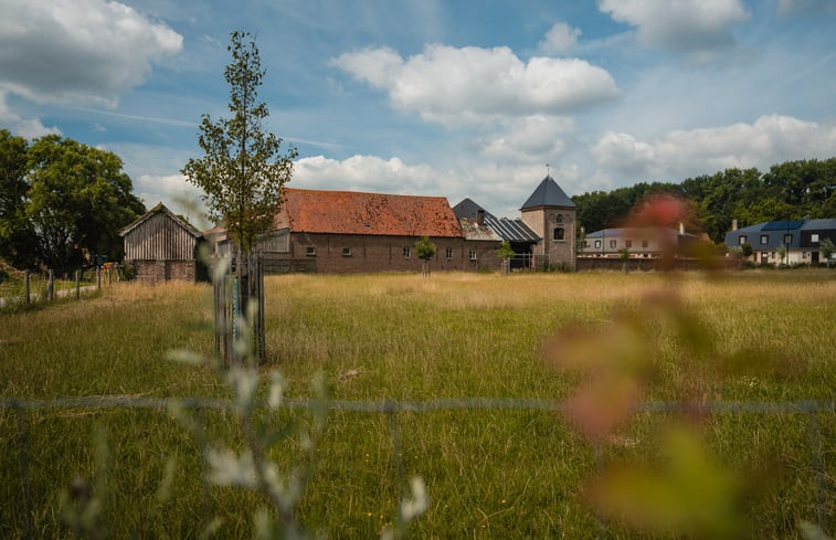
[[[209,218],[225,223],[237,252],[244,255],[278,212],[282,187],[293,176],[297,151],[289,147],[282,155],[282,139],[264,130],[269,112],[258,102],[265,71],[255,38],[241,31],[231,36],[226,50],[232,62],[223,76],[230,85],[232,117],[212,121],[208,114],[202,116],[198,144],[205,156],[189,159],[181,172],[203,190]]]

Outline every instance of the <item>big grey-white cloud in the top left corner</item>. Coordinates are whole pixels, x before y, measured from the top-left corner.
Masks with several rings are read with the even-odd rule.
[[[0,88],[36,103],[115,106],[182,36],[105,0],[2,0]]]

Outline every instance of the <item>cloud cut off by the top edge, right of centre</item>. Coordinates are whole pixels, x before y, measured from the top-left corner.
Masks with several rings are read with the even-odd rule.
[[[729,27],[750,17],[740,0],[600,0],[599,8],[636,27],[645,45],[698,55],[733,44]]]

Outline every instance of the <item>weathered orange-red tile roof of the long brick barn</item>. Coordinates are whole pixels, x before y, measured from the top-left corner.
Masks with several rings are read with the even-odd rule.
[[[443,197],[390,195],[356,191],[285,188],[276,226],[293,232],[462,236]]]

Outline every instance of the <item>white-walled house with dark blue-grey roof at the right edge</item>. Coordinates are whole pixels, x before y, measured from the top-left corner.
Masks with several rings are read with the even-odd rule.
[[[765,221],[726,233],[728,247],[752,246],[752,260],[760,264],[818,264],[822,242],[836,243],[836,219]],[[782,252],[785,250],[784,257]]]

